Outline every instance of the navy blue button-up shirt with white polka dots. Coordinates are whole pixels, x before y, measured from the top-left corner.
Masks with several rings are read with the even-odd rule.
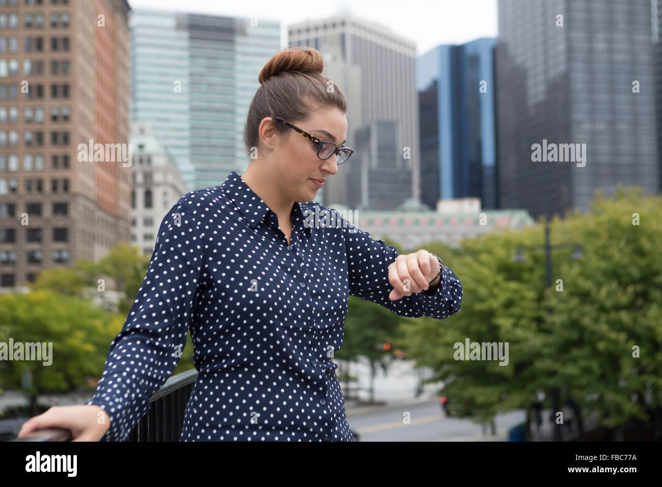
[[[348,295],[401,316],[444,319],[459,310],[462,286],[444,266],[432,296],[391,301],[397,249],[335,210],[334,226],[315,225],[315,206],[325,209],[293,205],[287,244],[275,213],[234,171],[179,199],[86,403],[111,418],[101,441],[124,441],[148,411],[187,329],[199,373],[181,441],[353,441],[332,361]]]

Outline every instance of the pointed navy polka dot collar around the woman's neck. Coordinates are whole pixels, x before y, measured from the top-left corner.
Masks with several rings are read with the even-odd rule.
[[[224,189],[225,193],[228,195],[228,198],[234,203],[234,205],[239,209],[242,216],[248,225],[252,229],[258,226],[260,221],[271,211],[273,216],[277,220],[277,217],[273,210],[267,206],[260,196],[255,193],[248,184],[237,174],[235,171],[230,172],[225,182],[220,185]],[[292,205],[292,221],[293,227],[304,227],[304,216],[301,209],[301,204],[298,201],[294,202]],[[310,227],[304,227],[306,235],[310,237],[311,229]]]

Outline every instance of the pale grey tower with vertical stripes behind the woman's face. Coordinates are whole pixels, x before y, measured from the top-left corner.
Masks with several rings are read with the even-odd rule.
[[[361,147],[324,184],[324,204],[395,209],[418,201],[416,44],[347,13],[288,30],[292,46],[322,54],[324,75],[348,98],[346,145]]]

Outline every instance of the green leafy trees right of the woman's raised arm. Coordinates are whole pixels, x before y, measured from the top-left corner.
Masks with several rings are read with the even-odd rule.
[[[463,412],[476,421],[528,409],[536,391],[553,387],[561,406],[573,398],[607,428],[650,419],[662,390],[661,203],[638,189],[619,189],[614,199],[598,192],[591,211],[553,219],[552,244],[579,242],[584,257],[553,250],[551,290],[544,251],[512,261],[518,244],[543,243],[542,225],[463,241],[449,264],[463,284],[461,311],[443,325],[407,319],[401,347],[436,371],[447,396],[465,398]],[[635,213],[640,225],[632,224]],[[508,365],[455,360],[455,343],[467,338],[508,343]]]

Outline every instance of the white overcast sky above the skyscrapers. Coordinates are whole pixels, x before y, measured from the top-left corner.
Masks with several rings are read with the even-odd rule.
[[[141,7],[191,13],[256,16],[281,21],[281,46],[287,44],[287,25],[335,15],[343,9],[390,28],[416,42],[418,55],[438,44],[462,44],[479,37],[495,37],[496,0],[128,0]],[[351,5],[351,6],[350,6]]]

